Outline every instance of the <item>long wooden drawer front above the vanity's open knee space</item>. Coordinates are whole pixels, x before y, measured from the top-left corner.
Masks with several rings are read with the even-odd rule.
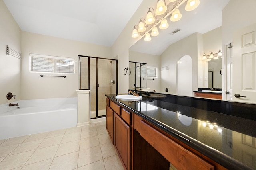
[[[140,120],[140,135],[177,169],[214,170],[214,166]]]

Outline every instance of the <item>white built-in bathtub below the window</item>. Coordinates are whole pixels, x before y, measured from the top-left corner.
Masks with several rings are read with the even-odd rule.
[[[0,105],[0,139],[77,125],[77,98],[20,100]],[[18,108],[19,107],[19,108]]]

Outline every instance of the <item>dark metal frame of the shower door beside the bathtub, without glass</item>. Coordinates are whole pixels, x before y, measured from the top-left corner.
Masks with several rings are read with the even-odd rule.
[[[98,59],[105,59],[105,60],[114,60],[116,61],[116,95],[118,94],[118,60],[117,59],[108,59],[108,58],[102,58],[102,57],[91,57],[91,56],[85,56],[85,55],[78,55],[78,58],[80,60],[80,57],[87,57],[88,58],[88,89],[79,89],[79,90],[90,90],[90,58],[96,59],[96,117],[91,118],[91,104],[90,104],[90,119],[97,119],[101,117],[106,117],[106,115],[99,116],[98,117]],[[80,64],[79,64],[80,65]],[[79,68],[79,78],[81,79],[81,70]],[[79,82],[81,83],[81,82]],[[81,84],[79,84],[81,86]],[[91,93],[90,93],[91,98]],[[91,103],[91,101],[90,101]]]

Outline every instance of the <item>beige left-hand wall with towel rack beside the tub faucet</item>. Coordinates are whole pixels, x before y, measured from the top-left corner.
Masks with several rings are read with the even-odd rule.
[[[21,59],[6,55],[6,45],[21,52],[21,30],[2,0],[0,0],[0,16],[0,104],[5,104],[21,99]],[[16,95],[16,99],[8,100],[6,98],[8,92]]]

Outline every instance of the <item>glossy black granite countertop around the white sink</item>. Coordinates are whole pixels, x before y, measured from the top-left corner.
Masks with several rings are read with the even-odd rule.
[[[115,94],[106,96],[228,169],[256,170],[256,121],[253,119],[170,100],[143,97],[140,101],[127,102],[116,100]],[[205,99],[202,105],[210,105],[209,102],[214,104],[216,100]],[[250,107],[252,111],[256,108]]]

